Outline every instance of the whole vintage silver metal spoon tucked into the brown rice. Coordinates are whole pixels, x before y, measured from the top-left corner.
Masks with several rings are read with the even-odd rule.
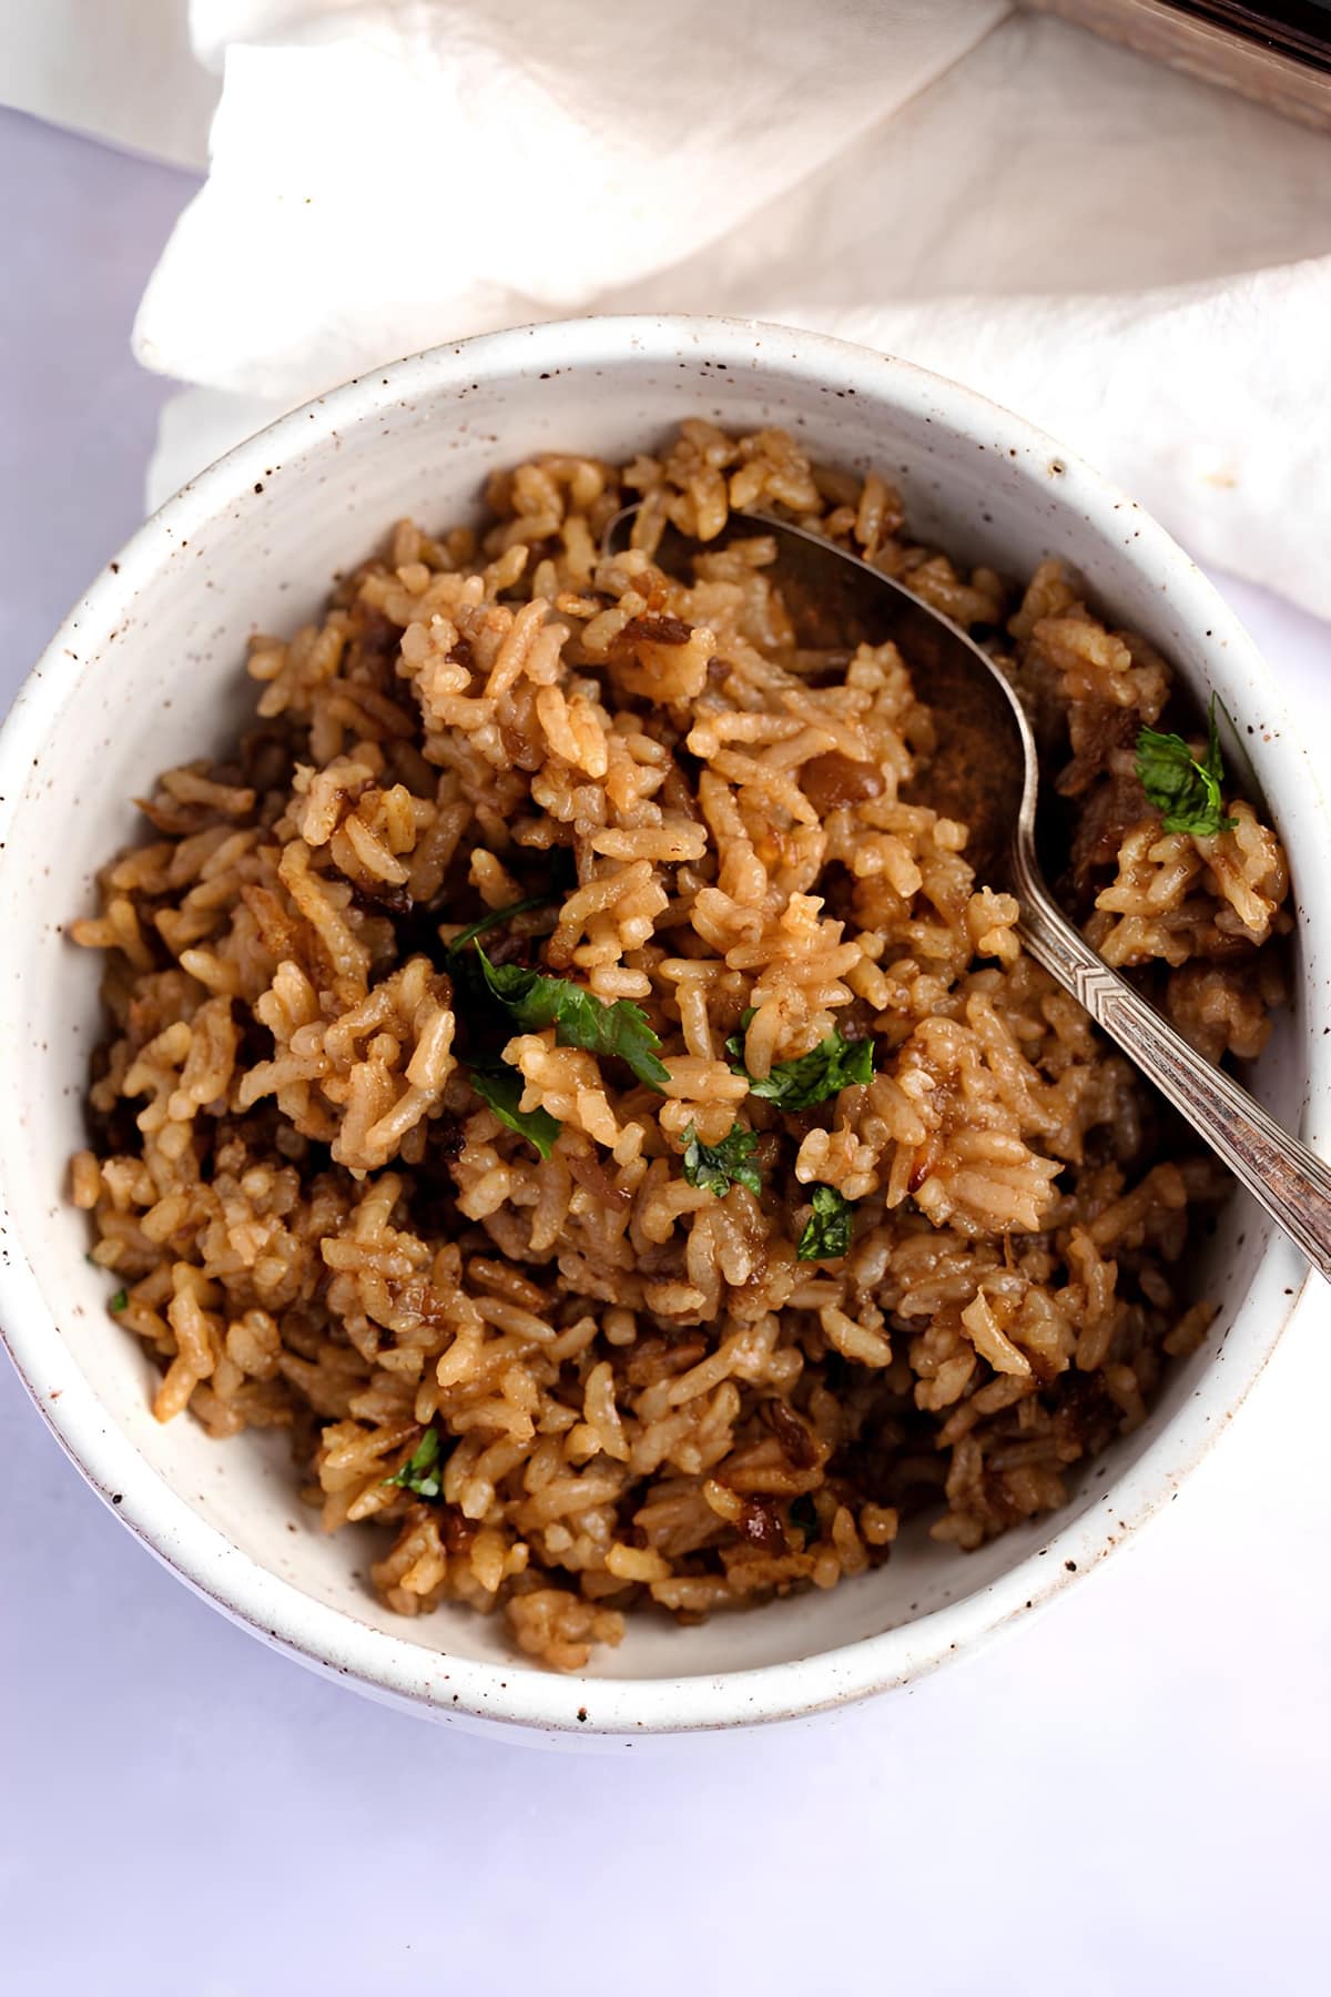
[[[637,507],[619,513],[607,553],[629,545]],[[1098,1026],[1159,1088],[1275,1224],[1331,1280],[1331,1168],[1267,1116],[1233,1076],[1199,1054],[1125,979],[1086,943],[1050,895],[1036,855],[1040,763],[1030,721],[994,661],[948,617],[866,561],[802,527],[762,515],[732,515],[730,535],[770,535],[776,575],[794,629],[806,645],[896,643],[946,741],[930,765],[930,803],[970,825],[968,859],[988,887],[1010,889],[1018,935]],[[722,543],[710,543],[718,547]],[[666,529],[655,559],[700,543]]]

